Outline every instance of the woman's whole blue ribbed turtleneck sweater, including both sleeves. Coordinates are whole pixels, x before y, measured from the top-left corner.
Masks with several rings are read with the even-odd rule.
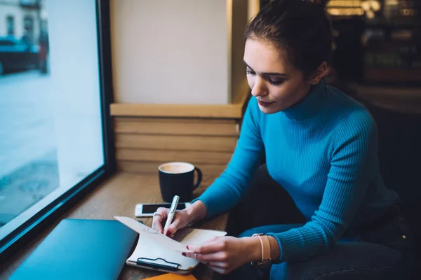
[[[198,198],[208,216],[238,204],[264,151],[269,174],[307,218],[301,228],[266,232],[279,243],[277,262],[326,251],[347,228],[381,216],[398,199],[380,176],[370,113],[319,83],[302,102],[274,114],[262,113],[250,99],[227,169]]]

